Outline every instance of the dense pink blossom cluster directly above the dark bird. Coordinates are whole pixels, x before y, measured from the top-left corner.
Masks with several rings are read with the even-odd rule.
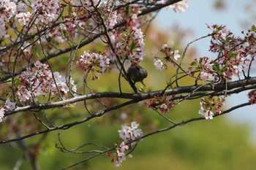
[[[116,55],[129,58],[131,63],[140,63],[143,60],[144,42],[143,32],[138,26],[133,26],[131,30],[115,38]]]

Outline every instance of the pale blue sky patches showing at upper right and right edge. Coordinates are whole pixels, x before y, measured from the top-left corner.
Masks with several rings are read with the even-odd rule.
[[[233,31],[237,36],[241,35],[242,30],[246,31],[248,29],[242,26],[241,23],[243,20],[247,20],[251,25],[256,23],[256,20],[252,20],[252,18],[249,17],[249,13],[246,12],[245,8],[246,4],[249,4],[252,0],[225,0],[225,2],[227,7],[222,10],[217,10],[214,9],[214,0],[190,0],[189,8],[185,12],[180,13],[173,12],[172,9],[162,9],[159,15],[157,15],[156,22],[164,29],[178,23],[179,26],[192,29],[196,38],[209,33],[208,28],[206,28],[206,23],[209,25],[226,25],[227,28]],[[188,42],[192,40],[192,38],[189,38]],[[195,45],[200,50],[200,55],[211,56],[211,53],[208,52],[209,43],[207,39],[197,42]],[[248,101],[246,97],[247,93],[248,92],[240,93],[230,97],[226,107],[228,108]],[[256,141],[255,111],[256,105],[237,109],[227,115],[233,122],[250,125],[253,130],[252,139],[254,139],[254,141]]]

